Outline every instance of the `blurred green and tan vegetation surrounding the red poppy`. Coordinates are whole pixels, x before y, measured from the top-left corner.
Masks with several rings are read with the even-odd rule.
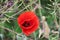
[[[31,10],[40,19],[39,29],[25,36],[17,17]],[[0,0],[0,40],[60,40],[60,0]]]

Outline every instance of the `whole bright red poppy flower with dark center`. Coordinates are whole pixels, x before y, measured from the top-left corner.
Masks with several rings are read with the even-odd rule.
[[[21,13],[17,21],[20,28],[22,29],[22,32],[26,36],[29,36],[31,33],[37,30],[39,26],[39,19],[32,11],[26,11]]]

